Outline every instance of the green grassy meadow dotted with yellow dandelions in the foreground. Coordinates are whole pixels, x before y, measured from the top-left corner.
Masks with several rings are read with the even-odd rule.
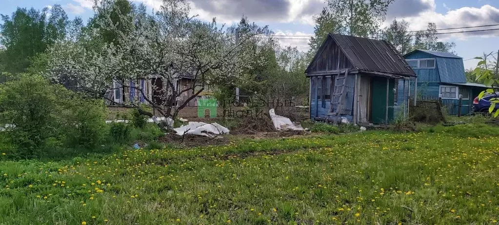
[[[497,224],[498,136],[458,125],[3,160],[0,224]]]

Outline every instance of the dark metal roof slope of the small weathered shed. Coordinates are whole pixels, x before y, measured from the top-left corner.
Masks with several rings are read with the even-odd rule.
[[[329,35],[358,70],[416,76],[402,55],[384,40],[333,33]]]

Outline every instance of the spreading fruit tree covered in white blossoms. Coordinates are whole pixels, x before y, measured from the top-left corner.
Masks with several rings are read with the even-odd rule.
[[[134,88],[165,117],[175,118],[205,84],[234,82],[250,61],[244,43],[260,32],[246,33],[237,41],[215,19],[204,22],[190,16],[185,0],[163,0],[161,9],[152,15],[143,5],[134,5],[130,13],[116,13],[119,8],[114,0],[96,1],[94,10],[99,15],[96,26],[89,27],[77,41],[62,41],[49,49],[47,75],[70,89],[101,98],[113,89],[113,81],[130,88],[123,81],[154,76],[163,82],[162,87],[153,87],[155,93],[161,93],[161,102],[153,101],[141,87]],[[102,41],[102,29],[114,36],[112,42]],[[192,83],[180,90],[176,82],[185,75]],[[176,106],[177,97],[184,92],[191,92],[191,97]],[[141,110],[140,104],[114,103],[152,116]]]

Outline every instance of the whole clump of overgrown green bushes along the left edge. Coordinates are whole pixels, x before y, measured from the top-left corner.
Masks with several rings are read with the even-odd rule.
[[[106,135],[105,107],[42,77],[21,75],[0,85],[0,143],[14,158],[66,147],[95,147]]]

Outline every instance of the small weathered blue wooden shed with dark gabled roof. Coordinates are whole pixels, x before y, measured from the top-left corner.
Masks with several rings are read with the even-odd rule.
[[[330,33],[305,74],[315,121],[387,124],[407,117],[409,95],[416,96],[416,74],[383,40]]]

